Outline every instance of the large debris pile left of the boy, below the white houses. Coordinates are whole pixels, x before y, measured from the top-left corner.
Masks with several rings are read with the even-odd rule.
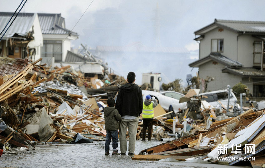
[[[104,140],[103,109],[109,95],[91,96],[86,90],[118,88],[125,79],[115,74],[104,79],[84,77],[70,66],[51,70],[46,64],[37,65],[40,60],[1,58],[0,143],[4,153],[38,143]],[[117,91],[111,90],[111,95]]]

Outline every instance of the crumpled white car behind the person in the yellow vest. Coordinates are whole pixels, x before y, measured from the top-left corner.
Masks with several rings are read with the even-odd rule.
[[[175,91],[163,91],[159,93],[156,91],[143,90],[142,94],[143,94],[143,100],[145,100],[145,97],[147,95],[150,95],[151,97],[154,96],[164,110],[168,110],[169,105],[173,106],[175,112],[178,112],[179,109],[183,110],[186,108],[187,102],[179,103],[180,97],[184,95]]]

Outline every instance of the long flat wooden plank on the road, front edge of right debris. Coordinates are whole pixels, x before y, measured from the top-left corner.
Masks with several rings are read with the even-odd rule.
[[[159,161],[168,157],[174,158],[178,161],[185,161],[185,159],[188,159],[192,156],[133,155],[132,160]]]

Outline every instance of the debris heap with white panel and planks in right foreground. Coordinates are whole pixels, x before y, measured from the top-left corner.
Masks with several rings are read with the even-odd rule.
[[[250,109],[237,117],[213,122],[208,129],[203,125],[193,126],[194,133],[142,150],[140,155],[134,155],[132,159],[160,160],[173,157],[179,161],[226,165],[241,161],[237,159],[239,157],[255,157],[256,162],[251,161],[252,164],[265,159],[265,110],[253,112]],[[148,155],[142,155],[145,153]]]

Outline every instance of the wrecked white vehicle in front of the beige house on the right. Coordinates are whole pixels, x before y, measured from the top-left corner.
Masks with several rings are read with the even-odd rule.
[[[202,98],[202,100],[206,100],[210,105],[214,107],[219,106],[219,101],[226,107],[228,103],[228,91],[227,89],[219,90],[219,91],[210,91],[205,93],[200,93],[200,96],[207,96],[208,98]],[[230,99],[229,99],[229,105],[238,106],[237,104],[237,98],[234,95],[232,89],[230,91]]]

